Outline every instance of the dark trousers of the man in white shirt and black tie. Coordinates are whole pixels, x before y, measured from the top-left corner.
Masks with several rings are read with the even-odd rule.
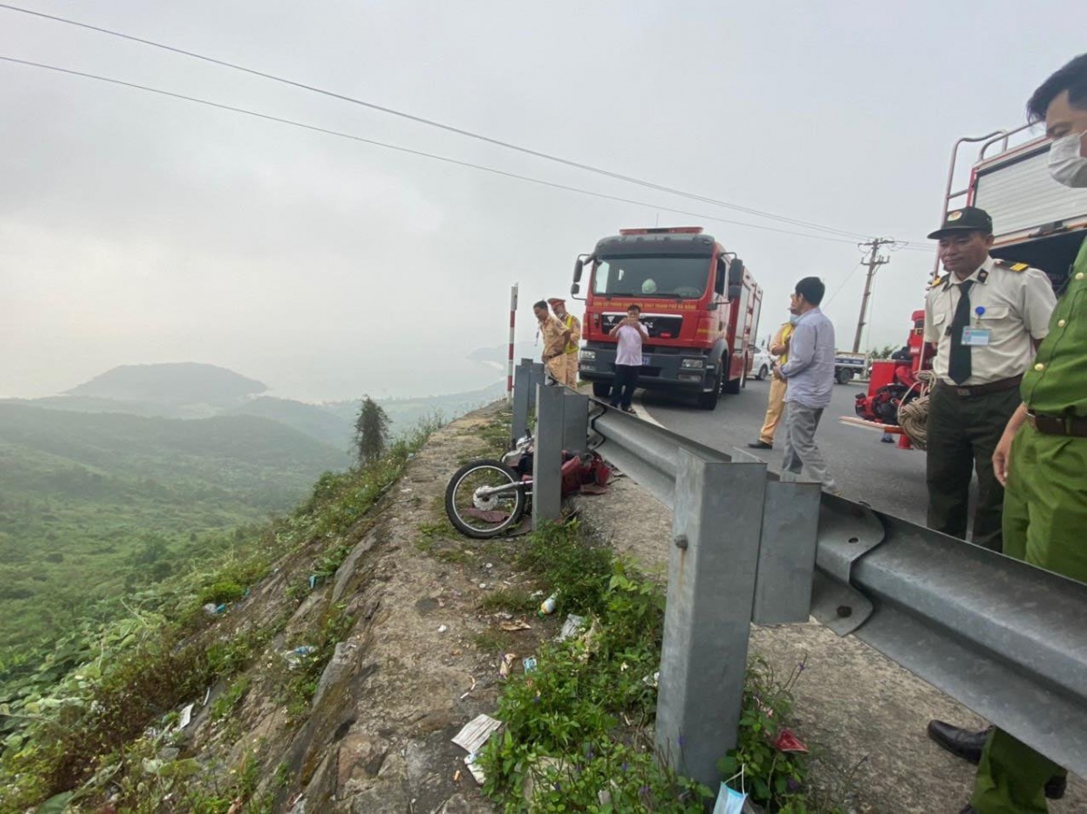
[[[992,472],[992,451],[1020,405],[1019,388],[959,396],[937,384],[928,400],[926,480],[928,527],[966,539],[970,480],[977,472],[973,541],[1000,551],[1004,490]]]

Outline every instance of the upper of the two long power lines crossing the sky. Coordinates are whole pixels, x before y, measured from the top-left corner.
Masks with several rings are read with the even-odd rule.
[[[777,214],[774,214],[772,212],[763,212],[761,210],[751,209],[750,206],[741,206],[739,204],[728,203],[727,201],[717,200],[715,198],[709,198],[707,196],[697,195],[695,192],[687,192],[687,191],[684,191],[682,189],[676,189],[674,187],[669,187],[669,186],[665,186],[665,185],[662,185],[662,184],[655,184],[653,181],[645,180],[645,179],[641,179],[641,178],[636,178],[634,176],[623,175],[622,173],[612,172],[610,170],[603,170],[601,167],[592,166],[591,164],[584,164],[582,162],[573,161],[571,159],[564,159],[564,158],[562,158],[560,155],[553,155],[551,153],[541,152],[539,150],[534,150],[534,149],[528,148],[528,147],[522,147],[520,145],[514,145],[514,143],[509,142],[509,141],[502,141],[500,139],[492,138],[490,136],[486,136],[486,135],[483,135],[480,133],[474,133],[472,130],[466,130],[466,129],[463,129],[463,128],[460,128],[460,127],[454,127],[453,125],[445,124],[442,122],[437,122],[437,121],[432,120],[432,118],[425,118],[423,116],[416,116],[416,115],[414,115],[412,113],[405,113],[404,111],[395,110],[392,108],[388,108],[388,107],[385,107],[385,105],[382,105],[382,104],[377,104],[375,102],[368,102],[368,101],[365,101],[363,99],[357,99],[354,97],[346,96],[343,93],[337,93],[336,91],[333,91],[333,90],[326,90],[324,88],[318,88],[318,87],[313,86],[313,85],[307,85],[305,83],[297,82],[295,79],[288,79],[288,78],[283,77],[283,76],[277,76],[275,74],[265,73],[263,71],[258,71],[258,70],[251,68],[251,67],[246,67],[245,65],[239,65],[239,64],[236,64],[236,63],[233,63],[233,62],[227,62],[225,60],[220,60],[220,59],[216,59],[214,57],[208,57],[205,54],[197,53],[195,51],[188,51],[188,50],[185,50],[183,48],[177,48],[175,46],[166,45],[164,42],[157,42],[154,40],[145,39],[142,37],[136,37],[136,36],[130,35],[130,34],[124,34],[122,32],[117,32],[117,30],[114,30],[114,29],[111,29],[111,28],[103,28],[101,26],[91,25],[89,23],[82,23],[82,22],[76,21],[76,20],[70,20],[67,17],[62,17],[62,16],[58,16],[58,15],[54,15],[54,14],[46,14],[45,12],[34,11],[32,9],[23,9],[23,8],[17,7],[17,5],[11,5],[9,3],[0,3],[0,9],[7,9],[8,11],[14,11],[14,12],[18,12],[21,14],[29,14],[29,15],[33,15],[33,16],[36,16],[36,17],[42,17],[45,20],[51,20],[53,22],[63,23],[65,25],[73,25],[73,26],[76,26],[76,27],[79,27],[79,28],[85,28],[85,29],[88,29],[88,30],[97,32],[99,34],[105,34],[105,35],[111,36],[111,37],[118,37],[121,39],[126,39],[126,40],[129,40],[132,42],[139,42],[141,45],[150,46],[152,48],[159,48],[159,49],[162,49],[164,51],[170,51],[172,53],[180,54],[183,57],[190,57],[190,58],[196,59],[196,60],[201,60],[203,62],[209,62],[209,63],[214,64],[214,65],[220,65],[221,67],[227,67],[227,68],[230,68],[233,71],[240,71],[242,73],[247,73],[247,74],[250,74],[252,76],[259,76],[259,77],[264,78],[264,79],[271,79],[272,82],[282,83],[284,85],[289,85],[291,87],[300,88],[302,90],[309,90],[309,91],[312,91],[314,93],[321,93],[322,96],[327,96],[327,97],[330,97],[333,99],[338,99],[340,101],[350,102],[352,104],[358,104],[358,105],[361,105],[363,108],[368,108],[371,110],[375,110],[375,111],[378,111],[380,113],[387,113],[387,114],[392,115],[392,116],[399,116],[400,118],[405,118],[408,121],[415,122],[417,124],[423,124],[423,125],[426,125],[428,127],[437,127],[437,128],[446,130],[448,133],[455,133],[459,136],[464,136],[466,138],[473,138],[473,139],[477,139],[479,141],[485,141],[487,143],[495,145],[496,147],[501,147],[501,148],[507,149],[507,150],[514,150],[516,152],[521,152],[521,153],[524,153],[526,155],[533,155],[533,156],[538,158],[538,159],[544,159],[545,161],[552,161],[552,162],[555,162],[555,163],[559,163],[559,164],[564,164],[566,166],[575,167],[577,170],[584,170],[584,171],[589,172],[589,173],[596,173],[597,175],[603,175],[605,177],[613,178],[615,180],[622,180],[622,181],[625,181],[627,184],[636,184],[638,186],[647,187],[649,189],[655,189],[657,191],[660,191],[660,192],[667,192],[670,195],[679,196],[682,198],[688,198],[690,200],[696,200],[696,201],[699,201],[701,203],[710,203],[710,204],[713,204],[713,205],[716,205],[716,206],[723,206],[725,209],[735,210],[737,212],[745,212],[745,213],[747,213],[749,215],[755,215],[758,217],[765,217],[765,218],[772,220],[772,221],[779,221],[782,223],[788,223],[788,224],[791,224],[794,226],[801,226],[803,228],[814,229],[816,231],[824,231],[824,233],[827,233],[827,234],[830,234],[830,235],[841,235],[841,236],[851,237],[851,238],[854,238],[854,239],[855,238],[864,238],[864,237],[866,237],[865,235],[861,235],[859,233],[847,231],[845,229],[838,229],[838,228],[835,228],[835,227],[832,227],[832,226],[823,226],[821,224],[812,223],[810,221],[800,221],[800,220],[797,220],[797,218],[787,217],[785,215],[777,215]]]

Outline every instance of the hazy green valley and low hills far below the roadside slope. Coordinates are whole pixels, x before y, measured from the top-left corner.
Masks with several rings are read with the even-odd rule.
[[[263,418],[0,404],[0,687],[13,665],[73,628],[127,613],[125,596],[232,550],[242,527],[346,464]]]

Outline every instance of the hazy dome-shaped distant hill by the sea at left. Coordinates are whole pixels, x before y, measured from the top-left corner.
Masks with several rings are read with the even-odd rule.
[[[121,365],[65,395],[150,404],[208,404],[228,408],[267,387],[225,367],[196,362]]]

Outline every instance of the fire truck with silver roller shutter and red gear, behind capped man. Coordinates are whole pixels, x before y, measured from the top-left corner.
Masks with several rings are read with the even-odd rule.
[[[1049,139],[1032,137],[1030,129],[1027,125],[955,142],[940,222],[958,206],[984,209],[992,216],[992,256],[1040,268],[1059,292],[1087,234],[1087,189],[1072,189],[1050,177]],[[959,149],[965,143],[979,143],[980,148],[970,166],[966,185],[957,189],[955,179],[961,175]],[[936,263],[933,278],[939,272],[939,260]],[[929,367],[932,358],[922,341],[923,327],[924,311],[915,311],[908,368],[902,360],[873,365],[869,392],[857,398],[857,414],[862,423],[901,431],[899,411],[926,390],[917,380],[917,372]],[[908,448],[909,438],[903,437],[899,446]]]

